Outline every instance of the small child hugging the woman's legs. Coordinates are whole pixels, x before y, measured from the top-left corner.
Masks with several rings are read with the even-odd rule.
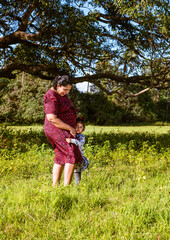
[[[81,172],[84,171],[89,165],[87,158],[83,155],[83,145],[85,144],[85,136],[82,134],[82,132],[84,131],[84,129],[85,129],[84,119],[82,117],[79,117],[76,119],[76,138],[77,139],[66,138],[66,141],[68,143],[73,143],[79,147],[81,155],[84,159],[84,161],[79,165],[77,165],[76,169],[74,170],[76,185],[78,185],[81,180]]]

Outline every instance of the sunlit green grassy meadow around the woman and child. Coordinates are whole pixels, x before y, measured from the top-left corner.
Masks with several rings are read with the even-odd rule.
[[[52,187],[42,126],[1,127],[0,239],[169,239],[168,126],[85,130],[90,167]]]

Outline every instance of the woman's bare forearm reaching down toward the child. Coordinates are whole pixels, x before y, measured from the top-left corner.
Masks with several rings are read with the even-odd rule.
[[[47,117],[47,120],[49,122],[51,122],[57,128],[68,130],[71,133],[71,135],[73,135],[74,137],[76,136],[76,130],[73,127],[71,127],[70,125],[68,125],[67,123],[64,123],[56,115],[54,115],[54,114],[46,114],[46,117]]]

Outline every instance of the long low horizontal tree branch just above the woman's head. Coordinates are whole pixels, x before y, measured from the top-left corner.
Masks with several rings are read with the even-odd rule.
[[[15,73],[14,73],[15,71]],[[62,75],[62,74],[68,74],[64,70],[60,70],[56,67],[56,65],[26,65],[21,63],[13,63],[9,64],[8,66],[0,69],[0,77],[4,78],[14,78],[16,77],[18,71],[24,71],[31,75],[34,75],[36,77],[39,77],[41,79],[46,80],[52,80],[56,75]],[[104,87],[100,79],[107,78],[110,81],[117,82],[117,83],[123,83],[123,84],[132,84],[132,83],[139,83],[141,86],[146,86],[146,82],[148,82],[148,87],[143,89],[142,91],[135,93],[135,94],[124,94],[121,92],[122,85],[120,87],[117,87],[116,89],[113,89],[109,91],[107,87]],[[114,93],[117,93],[119,95],[124,95],[125,97],[137,97],[142,93],[145,93],[153,88],[162,88],[166,89],[169,87],[170,79],[167,78],[162,81],[160,84],[157,85],[150,85],[150,79],[151,76],[132,76],[132,77],[123,77],[123,76],[117,76],[112,73],[98,73],[93,75],[85,75],[82,77],[74,77],[73,83],[80,83],[80,82],[91,82],[95,84],[97,87],[99,87],[103,92],[105,92],[108,95],[112,95]]]

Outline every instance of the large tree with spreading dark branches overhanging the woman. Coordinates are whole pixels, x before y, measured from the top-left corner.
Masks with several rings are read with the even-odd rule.
[[[169,88],[168,0],[2,0],[0,8],[2,78],[69,74],[120,95],[139,84],[127,96]]]

